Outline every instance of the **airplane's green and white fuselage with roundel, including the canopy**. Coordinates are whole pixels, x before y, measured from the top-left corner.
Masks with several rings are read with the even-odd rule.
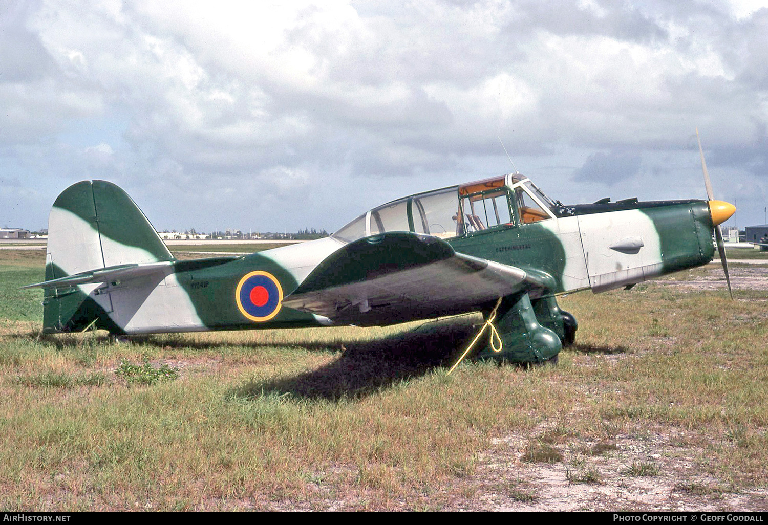
[[[129,333],[328,325],[280,300],[346,243],[388,231],[438,236],[458,253],[546,272],[555,282],[551,294],[601,292],[713,258],[707,201],[562,206],[526,181],[507,176],[419,193],[370,210],[325,239],[227,262],[178,263],[141,308],[118,307],[113,319]],[[111,304],[131,302],[113,295]]]

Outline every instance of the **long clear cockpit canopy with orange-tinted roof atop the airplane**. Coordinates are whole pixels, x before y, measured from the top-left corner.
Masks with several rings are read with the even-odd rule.
[[[333,237],[351,243],[405,231],[441,239],[554,219],[555,203],[519,173],[393,200],[357,217]]]

